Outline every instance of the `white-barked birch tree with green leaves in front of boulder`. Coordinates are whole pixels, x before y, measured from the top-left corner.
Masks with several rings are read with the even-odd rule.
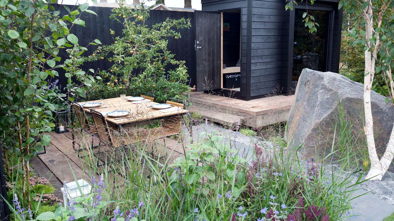
[[[286,1],[286,9],[293,10],[297,4],[295,0]],[[313,0],[308,0],[308,4]],[[353,14],[355,28],[348,33],[355,39],[353,44],[364,46],[365,70],[364,70],[364,132],[368,145],[368,155],[371,168],[366,179],[381,180],[386,173],[394,157],[394,127],[392,128],[389,141],[383,156],[379,159],[374,139],[374,121],[371,109],[371,90],[374,77],[383,75],[388,90],[387,103],[394,107],[394,83],[392,68],[394,67],[394,13],[393,0],[340,0],[339,8],[346,7]],[[304,13],[305,27],[310,32],[316,31],[318,24],[308,12]],[[393,122],[394,123],[394,122]]]

